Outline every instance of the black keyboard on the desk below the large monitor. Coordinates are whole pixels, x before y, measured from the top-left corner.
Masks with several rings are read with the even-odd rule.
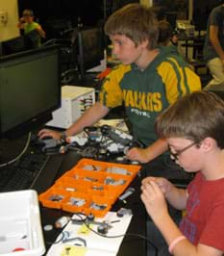
[[[49,156],[40,150],[27,152],[16,162],[0,167],[0,192],[33,189]]]

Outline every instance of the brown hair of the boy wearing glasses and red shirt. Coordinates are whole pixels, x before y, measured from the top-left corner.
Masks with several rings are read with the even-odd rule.
[[[213,92],[195,91],[180,98],[156,120],[161,138],[185,138],[196,143],[210,137],[224,148],[224,101]]]

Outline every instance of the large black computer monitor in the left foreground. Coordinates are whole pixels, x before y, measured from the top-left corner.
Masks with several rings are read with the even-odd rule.
[[[55,46],[0,58],[0,135],[23,134],[51,119],[61,105]]]

